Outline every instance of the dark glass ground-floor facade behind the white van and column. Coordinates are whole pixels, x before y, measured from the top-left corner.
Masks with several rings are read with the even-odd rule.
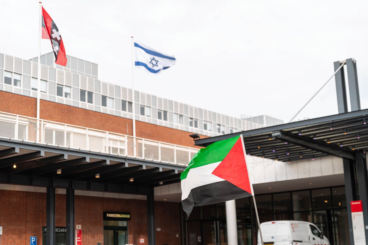
[[[300,220],[316,224],[331,245],[349,244],[344,186],[280,192],[255,196],[260,222]],[[256,244],[253,199],[236,200],[238,244]],[[225,203],[195,207],[187,221],[184,244],[227,244]]]

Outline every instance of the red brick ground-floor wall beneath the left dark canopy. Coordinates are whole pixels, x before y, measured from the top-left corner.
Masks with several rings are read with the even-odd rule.
[[[1,245],[28,245],[30,236],[37,236],[42,245],[46,226],[46,193],[0,190]],[[156,244],[179,245],[180,213],[178,203],[155,202]],[[66,226],[66,195],[56,194],[55,226]],[[147,242],[147,205],[145,200],[75,196],[75,224],[82,225],[82,244],[103,244],[103,212],[130,212],[128,239]],[[176,237],[176,234],[179,237]]]

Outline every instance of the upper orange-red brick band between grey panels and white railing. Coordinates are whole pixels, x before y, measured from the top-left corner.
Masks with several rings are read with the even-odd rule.
[[[35,98],[0,91],[0,111],[36,117],[36,103],[37,100]],[[120,134],[133,134],[133,125],[130,119],[47,100],[40,100],[40,118]],[[141,138],[196,147],[193,139],[189,137],[190,134],[192,133],[136,121],[136,135]],[[201,138],[206,137],[201,135]]]

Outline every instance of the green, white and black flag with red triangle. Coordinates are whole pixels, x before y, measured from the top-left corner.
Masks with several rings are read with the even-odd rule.
[[[188,217],[196,206],[252,196],[243,136],[200,149],[180,179],[181,202]]]

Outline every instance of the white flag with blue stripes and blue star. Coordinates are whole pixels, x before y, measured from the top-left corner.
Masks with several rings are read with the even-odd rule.
[[[149,72],[159,73],[176,63],[174,56],[163,54],[136,41],[134,41],[134,49],[135,66],[145,67]]]

